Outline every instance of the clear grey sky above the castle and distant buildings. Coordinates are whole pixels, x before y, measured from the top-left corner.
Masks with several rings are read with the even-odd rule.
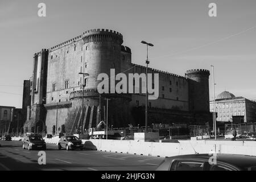
[[[38,4],[46,4],[46,17]],[[217,17],[208,15],[216,3]],[[0,105],[22,107],[33,55],[94,28],[121,32],[132,62],[184,76],[209,69],[215,91],[256,100],[255,0],[0,0]]]

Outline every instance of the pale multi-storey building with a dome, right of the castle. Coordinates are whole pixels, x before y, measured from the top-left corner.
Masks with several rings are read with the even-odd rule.
[[[213,112],[213,108],[213,101],[210,101],[211,112]],[[244,97],[236,97],[230,92],[225,91],[218,94],[215,108],[218,122],[256,122],[256,102]]]

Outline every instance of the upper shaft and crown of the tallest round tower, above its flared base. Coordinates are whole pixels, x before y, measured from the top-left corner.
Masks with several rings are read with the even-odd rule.
[[[89,73],[86,89],[97,89],[100,73],[110,77],[110,69],[120,72],[121,44],[123,36],[119,32],[104,29],[94,29],[83,33],[85,72]]]

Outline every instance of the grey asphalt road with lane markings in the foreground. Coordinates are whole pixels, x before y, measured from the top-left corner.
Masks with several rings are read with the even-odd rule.
[[[23,150],[22,142],[1,141],[0,144],[0,171],[154,171],[164,159],[92,150],[57,150],[56,144],[47,144],[46,165],[39,165],[39,151]]]

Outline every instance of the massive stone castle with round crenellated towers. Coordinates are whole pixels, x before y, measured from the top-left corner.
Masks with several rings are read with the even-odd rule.
[[[31,106],[27,108],[24,131],[34,131],[34,127],[42,131],[44,126],[47,133],[60,133],[63,128],[65,133],[76,133],[81,123],[84,129],[96,127],[100,118],[106,119],[105,98],[111,99],[110,126],[144,126],[145,94],[100,96],[97,92],[97,76],[110,75],[110,69],[115,69],[115,74],[146,73],[146,67],[131,63],[131,49],[122,43],[119,32],[94,29],[35,53],[30,79]],[[88,75],[83,77],[80,72]],[[148,101],[148,125],[211,123],[208,70],[192,69],[185,76],[178,76],[148,68],[148,73],[159,73],[159,98]],[[84,117],[81,84],[85,85]]]

